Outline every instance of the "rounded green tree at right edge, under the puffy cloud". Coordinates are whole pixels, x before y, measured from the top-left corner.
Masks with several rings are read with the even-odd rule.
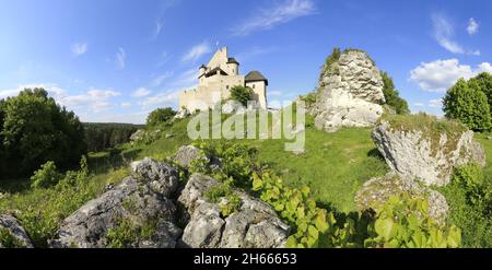
[[[464,79],[447,91],[443,103],[446,117],[459,120],[475,131],[490,129],[491,114],[485,93],[470,87]]]

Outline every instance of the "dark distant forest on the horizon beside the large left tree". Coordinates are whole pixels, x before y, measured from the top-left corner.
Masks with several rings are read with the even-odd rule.
[[[144,125],[84,122],[89,152],[98,152],[130,140],[132,133]]]

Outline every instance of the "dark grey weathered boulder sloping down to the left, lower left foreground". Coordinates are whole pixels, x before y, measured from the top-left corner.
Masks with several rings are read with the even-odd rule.
[[[133,176],[68,216],[50,245],[107,247],[114,244],[108,239],[108,232],[124,228],[127,230],[124,233],[130,234],[121,243],[125,247],[175,247],[181,230],[175,225],[176,207],[166,196],[176,191],[177,171],[149,159],[136,164],[133,169]]]

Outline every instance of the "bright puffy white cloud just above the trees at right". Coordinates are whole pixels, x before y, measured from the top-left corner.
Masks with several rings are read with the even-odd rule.
[[[458,59],[435,60],[422,62],[410,71],[410,80],[419,84],[423,90],[430,92],[444,92],[456,83],[460,78],[469,79],[479,72],[491,73],[492,67],[489,62],[479,64],[476,69],[471,66],[460,64]]]

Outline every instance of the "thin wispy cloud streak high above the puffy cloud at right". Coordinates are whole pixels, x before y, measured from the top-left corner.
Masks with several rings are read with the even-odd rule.
[[[434,27],[434,38],[437,43],[453,54],[465,54],[465,49],[453,40],[453,25],[442,14],[433,14],[432,23]]]

